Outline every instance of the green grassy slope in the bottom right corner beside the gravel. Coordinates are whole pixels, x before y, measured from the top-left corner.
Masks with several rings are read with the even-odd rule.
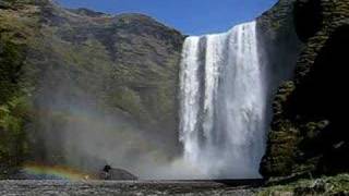
[[[349,195],[349,174],[299,180],[287,185],[268,186],[257,195]]]

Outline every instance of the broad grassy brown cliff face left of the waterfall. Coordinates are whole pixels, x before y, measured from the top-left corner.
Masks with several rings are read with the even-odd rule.
[[[130,147],[133,155],[149,146],[178,151],[179,32],[141,14],[68,10],[49,0],[1,0],[0,24],[0,140],[31,143],[1,142],[0,170],[2,160],[20,166],[24,157],[64,163],[68,149],[88,162],[85,156],[98,154],[79,149],[88,139],[100,147],[95,140],[132,137],[136,144],[128,145],[142,148]],[[88,139],[77,133],[84,131]],[[98,138],[104,132],[109,136]],[[154,137],[159,143],[148,142]]]

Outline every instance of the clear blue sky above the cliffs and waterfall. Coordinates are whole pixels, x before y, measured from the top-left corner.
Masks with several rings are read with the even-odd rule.
[[[252,21],[277,0],[57,0],[67,8],[143,13],[188,35],[225,32]]]

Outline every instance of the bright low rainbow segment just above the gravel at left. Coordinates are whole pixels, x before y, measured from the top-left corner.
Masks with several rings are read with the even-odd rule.
[[[67,180],[67,181],[86,181],[97,180],[95,174],[88,174],[81,172],[76,169],[64,166],[48,166],[44,163],[25,163],[23,166],[23,172],[27,175],[37,176],[40,179],[51,180]]]

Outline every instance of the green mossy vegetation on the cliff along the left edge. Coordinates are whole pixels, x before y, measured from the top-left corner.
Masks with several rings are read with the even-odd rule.
[[[14,1],[0,1],[0,179],[15,172],[28,152],[24,126],[31,117],[31,85],[23,77],[28,39],[37,17]]]

